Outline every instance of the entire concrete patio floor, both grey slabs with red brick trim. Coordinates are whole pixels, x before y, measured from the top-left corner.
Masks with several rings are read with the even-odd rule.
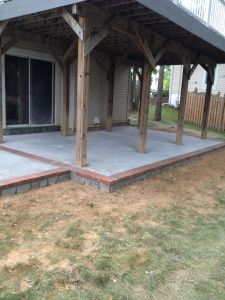
[[[0,184],[40,172],[53,174],[54,170],[73,170],[78,181],[82,177],[89,182],[101,179],[110,185],[111,181],[121,181],[123,176],[127,180],[128,175],[139,174],[140,170],[143,175],[152,167],[155,170],[156,165],[190,160],[192,155],[199,156],[202,151],[225,146],[220,141],[192,136],[185,136],[183,145],[179,146],[175,144],[174,133],[149,130],[147,151],[139,153],[138,130],[134,127],[114,127],[111,133],[101,130],[88,135],[88,165],[85,168],[74,166],[75,135],[64,137],[60,132],[49,132],[5,136],[5,143],[0,147]]]

